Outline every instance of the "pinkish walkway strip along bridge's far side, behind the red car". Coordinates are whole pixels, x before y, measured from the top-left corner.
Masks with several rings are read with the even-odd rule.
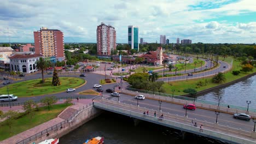
[[[126,94],[130,94],[130,95],[141,94],[139,92],[128,91],[126,89],[122,89],[121,93],[126,93]],[[201,107],[202,109],[210,109],[210,110],[214,110],[214,111],[220,111],[220,112],[226,112],[226,113],[232,113],[232,114],[234,114],[234,113],[248,113],[250,116],[256,118],[256,113],[248,112],[246,110],[231,109],[231,108],[228,108],[228,107],[223,107],[223,106],[218,106],[218,105],[197,103],[196,101],[194,102],[194,101],[190,101],[190,100],[177,99],[175,97],[174,98],[164,97],[164,96],[160,96],[160,95],[147,94],[147,93],[143,93],[143,94],[148,99],[162,100],[162,101],[167,101],[167,102],[170,102],[170,103],[176,103],[176,104],[181,104],[181,105],[194,103],[197,107]]]

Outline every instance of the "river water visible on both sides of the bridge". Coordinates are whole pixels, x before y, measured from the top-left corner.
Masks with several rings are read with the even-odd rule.
[[[256,75],[234,85],[199,95],[197,98],[217,102],[219,95],[221,103],[244,107],[247,107],[246,100],[249,100],[251,101],[250,107],[256,109],[255,94]],[[104,112],[92,121],[61,137],[60,143],[83,143],[96,136],[104,136],[104,142],[111,144],[223,143],[194,134],[188,134],[183,140],[179,130],[144,121],[135,127],[132,118],[111,112]]]

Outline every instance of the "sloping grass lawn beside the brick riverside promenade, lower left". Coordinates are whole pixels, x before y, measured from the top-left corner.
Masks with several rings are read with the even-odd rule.
[[[35,112],[35,115],[32,117],[31,121],[30,117],[27,115],[15,119],[13,125],[11,126],[12,133],[9,133],[8,125],[4,124],[4,122],[1,122],[0,141],[56,118],[57,115],[59,115],[59,113],[66,109],[68,106],[69,105],[66,104],[53,105],[53,108],[51,108],[50,111],[48,111],[48,106],[39,107],[39,111]]]

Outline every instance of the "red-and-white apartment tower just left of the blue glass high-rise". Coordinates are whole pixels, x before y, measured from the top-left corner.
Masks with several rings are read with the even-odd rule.
[[[101,22],[97,26],[97,55],[110,55],[117,47],[115,28]]]

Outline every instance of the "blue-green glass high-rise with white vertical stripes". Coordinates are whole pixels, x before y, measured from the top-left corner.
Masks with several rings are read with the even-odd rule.
[[[128,26],[128,44],[131,49],[139,50],[139,32],[138,27]]]

